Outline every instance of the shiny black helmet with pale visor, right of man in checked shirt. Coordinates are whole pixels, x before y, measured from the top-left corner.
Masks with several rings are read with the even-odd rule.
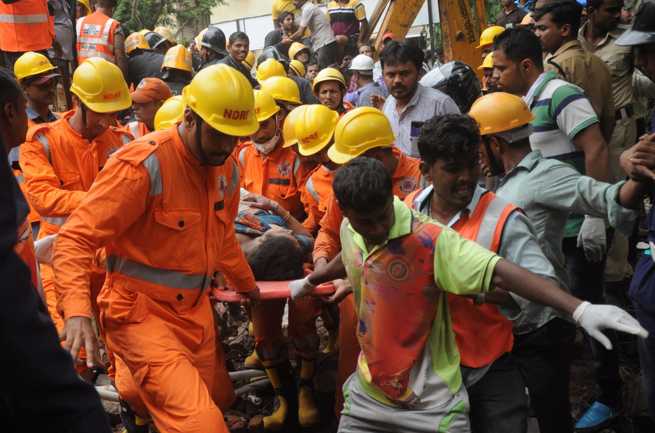
[[[441,90],[453,98],[462,113],[468,113],[471,105],[482,96],[482,86],[476,71],[459,60],[432,69],[423,75],[421,85]]]

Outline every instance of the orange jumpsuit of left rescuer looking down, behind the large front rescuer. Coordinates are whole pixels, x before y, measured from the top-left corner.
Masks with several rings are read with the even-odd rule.
[[[132,141],[129,134],[110,127],[89,143],[68,124],[67,119],[74,113],[75,110],[67,111],[58,121],[33,126],[28,131],[27,141],[20,146],[19,162],[28,201],[43,217],[37,239],[60,231],[67,217],[86,196],[107,159],[122,145]],[[90,308],[96,318],[100,316],[96,297],[105,281],[105,269],[100,265],[94,267],[90,280],[93,299]],[[64,320],[56,311],[52,267],[41,265],[41,280],[48,312],[57,331],[61,332]],[[81,358],[86,359],[84,355]],[[84,369],[85,364],[78,366],[78,371]],[[113,376],[113,369],[109,372]]]

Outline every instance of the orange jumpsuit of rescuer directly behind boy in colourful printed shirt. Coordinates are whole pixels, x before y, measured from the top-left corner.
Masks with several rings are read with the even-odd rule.
[[[424,183],[421,170],[419,170],[420,160],[407,157],[396,147],[394,147],[394,155],[398,158],[396,170],[391,176],[394,183],[394,195],[403,199]],[[314,244],[314,262],[319,257],[325,257],[329,261],[341,249],[341,238],[339,237],[341,221],[343,221],[343,215],[339,210],[337,198],[334,193],[330,193],[326,214],[320,221],[321,229],[318,231],[316,244]],[[341,409],[343,409],[344,403],[341,388],[348,377],[355,372],[357,357],[362,350],[357,340],[357,322],[358,316],[351,293],[339,303],[339,367],[335,383],[335,415],[337,415],[337,419],[341,418]]]

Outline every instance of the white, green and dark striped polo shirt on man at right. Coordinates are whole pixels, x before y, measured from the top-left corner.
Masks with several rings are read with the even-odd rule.
[[[523,100],[535,116],[531,122],[532,149],[585,174],[584,152],[573,143],[573,138],[599,120],[584,90],[557,78],[557,71],[553,70],[542,73]],[[578,236],[583,219],[583,215],[571,214],[564,236]]]

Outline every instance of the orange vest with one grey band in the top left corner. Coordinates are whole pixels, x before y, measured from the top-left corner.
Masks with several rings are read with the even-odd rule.
[[[0,2],[0,50],[47,50],[52,39],[54,22],[46,0],[21,0],[11,5]]]

